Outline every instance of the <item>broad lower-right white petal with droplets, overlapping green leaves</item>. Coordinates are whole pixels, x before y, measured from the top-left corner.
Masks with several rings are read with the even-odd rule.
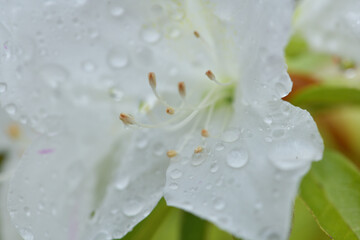
[[[299,182],[322,157],[321,137],[309,113],[286,102],[241,108],[222,140],[195,138],[171,163],[165,199],[244,239],[287,239]]]

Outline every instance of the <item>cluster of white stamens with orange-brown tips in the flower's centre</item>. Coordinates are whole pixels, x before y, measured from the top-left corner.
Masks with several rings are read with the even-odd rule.
[[[191,104],[187,101],[186,85],[184,82],[179,82],[177,87],[178,94],[181,98],[181,103],[179,106],[173,106],[170,105],[168,101],[166,101],[166,99],[158,93],[156,75],[155,73],[150,72],[148,74],[148,81],[152,92],[156,97],[157,102],[164,108],[165,113],[169,115],[170,118],[160,122],[152,121],[150,124],[148,124],[135,120],[135,117],[133,117],[131,114],[121,113],[119,117],[120,120],[126,126],[140,128],[162,128],[169,132],[182,130],[185,126],[190,125],[190,132],[188,133],[190,136],[193,135],[197,129],[201,129],[199,134],[204,140],[209,137],[220,137],[219,135],[212,134],[212,129],[209,129],[209,126],[212,121],[214,112],[220,108],[225,107],[227,109],[227,114],[222,116],[223,124],[222,127],[220,127],[220,133],[226,129],[232,114],[231,106],[234,101],[235,84],[232,82],[219,81],[215,77],[215,74],[210,70],[206,71],[205,75],[214,83],[214,85],[210,87],[210,89],[201,92],[202,95],[200,97],[200,101],[197,104]],[[197,94],[199,92],[200,91],[195,91]],[[145,110],[147,115],[153,114],[153,109],[149,104],[144,104],[142,109]],[[169,150],[167,152],[167,156],[169,158],[177,156],[178,152],[183,150],[188,141],[189,138],[185,138],[183,143],[180,144],[179,148],[177,150]],[[194,146],[194,154],[200,154],[203,152],[203,150],[203,146]]]

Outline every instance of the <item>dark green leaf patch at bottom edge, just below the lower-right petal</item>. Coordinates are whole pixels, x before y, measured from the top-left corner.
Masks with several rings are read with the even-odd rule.
[[[183,213],[181,240],[205,240],[205,230],[205,220],[188,212]]]

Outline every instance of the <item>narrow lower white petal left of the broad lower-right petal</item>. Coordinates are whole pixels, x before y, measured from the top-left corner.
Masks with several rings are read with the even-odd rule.
[[[122,139],[121,151],[113,157],[121,161],[120,167],[114,171],[84,239],[121,238],[150,214],[163,196],[169,164],[161,139],[159,131],[139,131]]]

